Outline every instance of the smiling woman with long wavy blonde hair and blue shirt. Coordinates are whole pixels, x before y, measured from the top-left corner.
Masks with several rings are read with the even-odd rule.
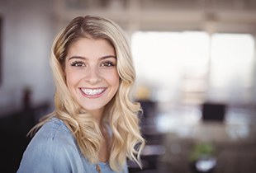
[[[128,172],[140,165],[140,104],[130,98],[135,69],[121,28],[79,16],[57,36],[51,68],[55,112],[36,125],[17,172]]]

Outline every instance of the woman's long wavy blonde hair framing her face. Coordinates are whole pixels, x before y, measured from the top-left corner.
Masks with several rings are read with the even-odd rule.
[[[104,118],[111,127],[109,164],[121,171],[126,157],[140,164],[140,152],[145,140],[140,134],[140,104],[132,101],[131,89],[135,82],[130,46],[125,34],[115,22],[96,16],[78,16],[57,35],[50,59],[55,79],[55,112],[46,116],[37,128],[53,116],[62,119],[72,131],[80,151],[88,161],[96,163],[102,143],[102,133],[92,115],[89,115],[71,96],[64,78],[64,62],[71,44],[81,38],[107,40],[115,49],[120,86],[107,104]]]

